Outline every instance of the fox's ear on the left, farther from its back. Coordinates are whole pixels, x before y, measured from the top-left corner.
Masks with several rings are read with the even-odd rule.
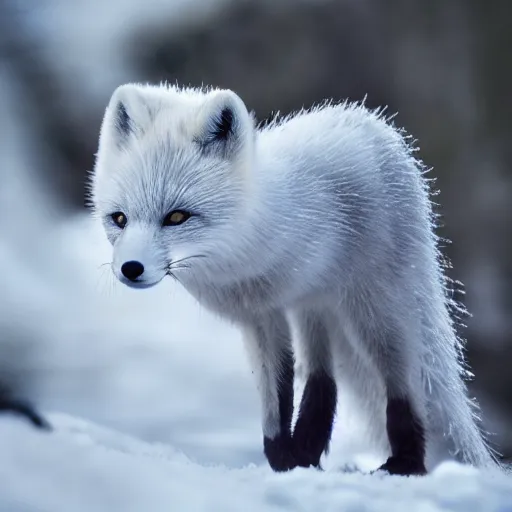
[[[104,125],[113,132],[111,134],[118,146],[122,146],[130,136],[144,133],[150,122],[147,98],[135,84],[121,85],[114,91]]]

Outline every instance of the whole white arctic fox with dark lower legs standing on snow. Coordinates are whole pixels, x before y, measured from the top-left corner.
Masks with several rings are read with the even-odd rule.
[[[230,90],[112,95],[91,177],[112,270],[133,288],[172,276],[241,328],[275,471],[319,467],[337,385],[382,423],[378,469],[495,464],[464,382],[424,171],[408,138],[360,103],[257,128]],[[291,326],[307,363],[294,427]]]

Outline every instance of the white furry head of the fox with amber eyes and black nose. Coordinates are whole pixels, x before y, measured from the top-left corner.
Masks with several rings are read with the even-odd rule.
[[[147,288],[166,275],[216,281],[243,272],[236,247],[254,135],[252,116],[229,90],[115,90],[90,188],[121,282]]]

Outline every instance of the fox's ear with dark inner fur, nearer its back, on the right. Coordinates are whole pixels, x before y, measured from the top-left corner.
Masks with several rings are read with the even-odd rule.
[[[203,107],[203,129],[197,139],[205,152],[229,158],[238,153],[252,132],[252,118],[232,91],[214,93]]]

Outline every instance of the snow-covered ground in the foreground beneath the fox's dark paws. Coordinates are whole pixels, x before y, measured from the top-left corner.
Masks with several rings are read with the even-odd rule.
[[[512,485],[456,463],[425,478],[297,469],[275,474],[191,461],[169,445],[149,444],[62,414],[40,434],[0,424],[0,510],[79,511],[485,511],[512,510]]]

